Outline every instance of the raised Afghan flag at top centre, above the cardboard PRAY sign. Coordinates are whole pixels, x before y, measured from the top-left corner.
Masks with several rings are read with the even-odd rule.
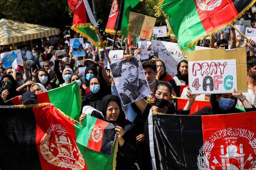
[[[110,15],[107,21],[106,33],[115,35],[123,35],[128,37],[129,16],[132,8],[134,8],[140,0],[113,0]]]

